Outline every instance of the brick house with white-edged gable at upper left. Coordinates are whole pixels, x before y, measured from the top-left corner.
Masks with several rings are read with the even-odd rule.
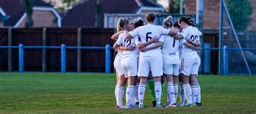
[[[5,21],[0,27],[25,27],[26,13],[22,4],[17,0],[1,0],[0,7],[5,12]],[[1,10],[0,10],[1,13]],[[2,13],[1,13],[2,15]],[[42,0],[33,0],[33,27],[60,27],[61,17],[52,5]],[[0,21],[1,24],[1,21]]]

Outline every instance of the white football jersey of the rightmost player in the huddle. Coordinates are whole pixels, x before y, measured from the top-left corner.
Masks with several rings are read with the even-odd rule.
[[[192,41],[199,41],[201,32],[196,27],[188,26],[184,28],[179,34],[183,35],[184,39],[181,39],[181,44],[184,44],[187,39],[191,39]],[[182,45],[181,58],[198,58],[198,54],[194,49]]]

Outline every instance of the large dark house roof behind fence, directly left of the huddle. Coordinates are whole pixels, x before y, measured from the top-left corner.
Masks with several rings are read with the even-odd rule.
[[[62,20],[62,26],[94,27],[95,2],[86,0],[73,6]],[[163,8],[150,0],[107,0],[102,1],[100,26],[104,26],[104,13],[136,13],[142,6]]]

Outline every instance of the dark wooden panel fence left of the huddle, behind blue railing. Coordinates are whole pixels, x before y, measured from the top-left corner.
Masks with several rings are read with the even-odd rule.
[[[0,28],[0,45],[17,46],[78,46],[78,28]],[[44,31],[44,32],[43,32]],[[80,46],[113,45],[112,28],[82,28]],[[44,35],[43,35],[44,34]],[[113,53],[113,51],[111,52]],[[8,60],[8,54],[11,60]],[[66,52],[67,72],[77,71],[77,49],[68,49]],[[111,56],[113,67],[113,54]],[[24,50],[24,70],[42,71],[42,49]],[[82,72],[105,72],[105,51],[82,50]],[[46,71],[60,72],[60,49],[46,49]],[[12,68],[8,68],[8,64]],[[18,70],[18,49],[0,49],[0,69],[2,71]],[[112,70],[113,71],[113,70]]]

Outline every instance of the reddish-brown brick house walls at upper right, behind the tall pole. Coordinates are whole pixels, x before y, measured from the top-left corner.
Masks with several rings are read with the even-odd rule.
[[[197,0],[185,0],[185,14],[196,15],[197,13]],[[249,0],[253,12],[252,20],[249,26],[247,26],[248,31],[256,31],[256,1]],[[219,0],[204,0],[204,29],[205,30],[219,30],[219,10],[220,1]]]

